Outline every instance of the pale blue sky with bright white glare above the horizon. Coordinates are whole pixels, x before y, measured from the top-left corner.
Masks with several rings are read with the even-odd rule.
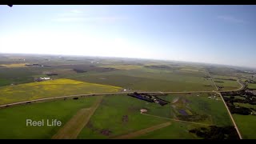
[[[0,53],[256,68],[256,6],[0,6]]]

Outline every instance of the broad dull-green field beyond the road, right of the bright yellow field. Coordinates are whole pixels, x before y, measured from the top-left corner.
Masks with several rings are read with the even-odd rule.
[[[214,90],[212,82],[201,74],[166,72],[165,70],[136,69],[106,73],[84,74],[73,78],[85,82],[121,86],[131,90],[193,91]]]

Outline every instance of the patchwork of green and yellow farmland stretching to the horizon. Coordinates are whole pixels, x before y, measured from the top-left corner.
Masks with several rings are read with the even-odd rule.
[[[23,66],[24,59],[31,65]],[[91,94],[73,97],[74,100],[66,97],[2,107],[0,138],[200,139],[202,135],[190,131],[233,126],[222,99],[213,91],[214,84],[222,86],[221,90],[237,90],[241,87],[238,78],[246,79],[233,69],[226,74],[226,68],[182,62],[48,55],[6,56],[0,60],[0,105]],[[50,80],[35,82],[35,78]],[[161,106],[118,94],[135,91],[160,94],[158,98],[170,103]],[[161,95],[165,92],[180,94]],[[236,98],[246,100],[239,94]],[[146,113],[141,113],[142,109]],[[26,127],[26,118],[55,118],[62,121],[62,126]],[[14,127],[18,129],[13,130]]]

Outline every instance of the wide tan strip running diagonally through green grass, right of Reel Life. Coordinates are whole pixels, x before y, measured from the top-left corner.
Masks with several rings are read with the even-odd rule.
[[[58,130],[57,134],[54,134],[52,139],[75,139],[81,132],[84,126],[89,122],[90,117],[94,114],[99,104],[102,102],[103,96],[98,97],[97,102],[90,108],[78,110],[78,113],[70,118],[69,122]]]

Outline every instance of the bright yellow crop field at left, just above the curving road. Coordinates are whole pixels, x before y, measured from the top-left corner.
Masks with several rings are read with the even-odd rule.
[[[2,87],[0,88],[0,104],[74,94],[118,92],[119,90],[121,88],[117,86],[99,85],[70,79],[56,79]]]

